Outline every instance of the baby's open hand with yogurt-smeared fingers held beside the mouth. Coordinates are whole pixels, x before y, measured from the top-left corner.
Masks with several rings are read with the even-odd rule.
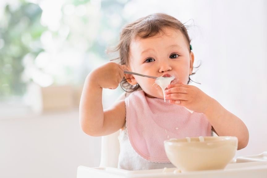
[[[184,106],[195,112],[205,112],[211,106],[213,99],[199,88],[183,83],[168,85],[165,98],[171,104]]]

